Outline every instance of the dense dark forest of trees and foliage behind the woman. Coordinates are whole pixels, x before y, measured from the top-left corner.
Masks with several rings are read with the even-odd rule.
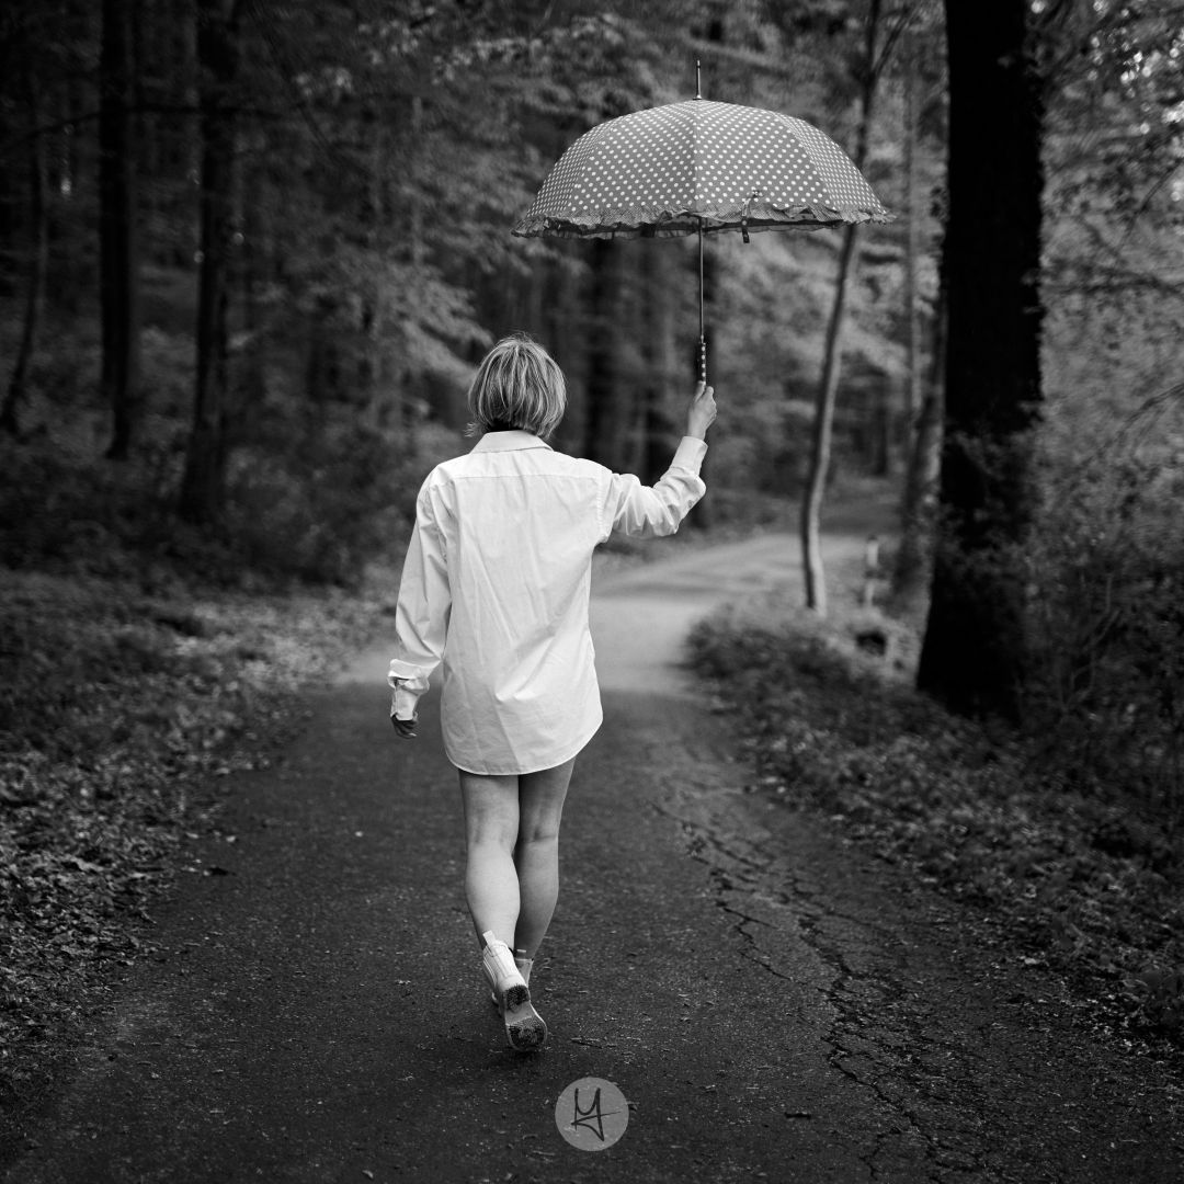
[[[1038,741],[1043,792],[1103,803],[1102,845],[1176,882],[1182,31],[1178,0],[9,0],[0,915],[97,860],[51,858],[27,819],[89,817],[135,779],[133,733],[184,733],[147,703],[111,732],[88,714],[110,680],[159,694],[154,631],[208,628],[191,599],[361,596],[469,446],[497,337],[562,366],[558,448],[661,474],[697,366],[694,240],[510,229],[588,128],[694,98],[696,63],[704,98],[824,130],[895,217],[710,239],[721,414],[691,533],[800,534],[824,617],[819,521],[873,490],[918,688]],[[244,645],[236,670],[265,643]],[[186,668],[194,703],[225,671]],[[1184,957],[1163,920],[1140,965]],[[20,1015],[22,982],[0,983]]]

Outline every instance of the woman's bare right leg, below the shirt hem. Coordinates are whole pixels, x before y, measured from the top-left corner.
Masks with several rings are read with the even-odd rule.
[[[514,848],[517,867],[519,913],[511,945],[534,958],[559,896],[559,823],[572,779],[570,760],[555,768],[523,773],[519,780],[519,834]]]

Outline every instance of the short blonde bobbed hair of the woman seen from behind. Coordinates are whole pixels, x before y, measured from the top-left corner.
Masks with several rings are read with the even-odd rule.
[[[538,341],[513,333],[485,354],[469,386],[469,435],[519,429],[546,437],[566,410],[564,372]]]

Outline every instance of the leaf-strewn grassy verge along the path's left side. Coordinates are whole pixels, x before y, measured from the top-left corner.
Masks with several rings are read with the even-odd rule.
[[[152,954],[220,778],[266,762],[381,614],[373,593],[0,570],[0,1120]]]

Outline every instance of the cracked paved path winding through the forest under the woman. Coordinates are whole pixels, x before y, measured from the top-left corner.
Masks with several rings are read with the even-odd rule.
[[[862,538],[834,536],[831,558]],[[382,658],[320,694],[160,916],[12,1184],[176,1180],[1184,1179],[1180,1098],[1072,1028],[1055,986],[957,908],[746,793],[677,667],[713,604],[796,578],[770,538],[604,580],[605,726],[536,971],[552,1042],[504,1048],[478,990],[455,774],[431,703],[391,736]],[[570,1147],[575,1079],[630,1124]],[[0,1159],[0,1162],[5,1162]]]

